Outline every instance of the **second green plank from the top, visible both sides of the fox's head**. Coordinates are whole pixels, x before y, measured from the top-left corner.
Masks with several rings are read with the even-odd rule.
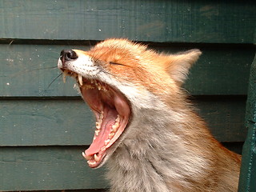
[[[194,48],[175,44],[150,47],[167,53]],[[64,84],[60,77],[48,87],[60,74],[57,69],[60,51],[71,48],[88,50],[90,46],[0,44],[0,97],[78,96],[73,78],[68,78]],[[190,94],[247,94],[254,47],[198,48],[202,50],[202,57],[190,70],[185,84]]]

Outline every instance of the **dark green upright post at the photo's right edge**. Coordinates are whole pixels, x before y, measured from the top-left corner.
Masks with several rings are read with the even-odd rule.
[[[248,134],[242,150],[239,192],[256,191],[256,54],[250,70],[250,84],[246,104]]]

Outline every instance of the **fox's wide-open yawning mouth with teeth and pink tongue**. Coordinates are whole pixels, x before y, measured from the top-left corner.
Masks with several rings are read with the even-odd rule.
[[[82,98],[96,117],[93,142],[82,152],[88,165],[95,168],[101,165],[107,150],[125,130],[130,118],[130,105],[123,94],[105,82],[83,78],[70,70],[63,70],[63,81],[66,75],[76,78]]]

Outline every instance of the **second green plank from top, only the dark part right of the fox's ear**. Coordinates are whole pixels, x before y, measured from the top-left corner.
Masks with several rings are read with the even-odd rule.
[[[247,93],[254,48],[241,49],[222,45],[198,48],[202,50],[202,56],[190,69],[184,85],[190,94],[244,95]],[[170,50],[167,49],[166,52]]]

